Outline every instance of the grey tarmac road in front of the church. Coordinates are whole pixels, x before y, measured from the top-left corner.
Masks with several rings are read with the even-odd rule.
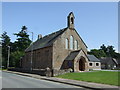
[[[82,88],[82,87],[2,72],[2,88]]]

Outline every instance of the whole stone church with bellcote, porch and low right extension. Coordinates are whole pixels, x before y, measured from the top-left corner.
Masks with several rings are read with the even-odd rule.
[[[25,50],[22,68],[50,68],[53,76],[60,70],[80,72],[101,69],[100,61],[87,54],[87,45],[74,28],[74,19],[71,12],[67,17],[66,28],[44,37],[38,35],[38,39]]]

